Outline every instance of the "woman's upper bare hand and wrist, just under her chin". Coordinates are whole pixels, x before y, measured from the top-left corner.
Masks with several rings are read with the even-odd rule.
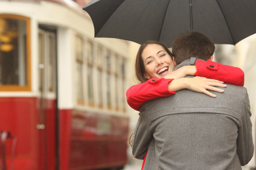
[[[182,77],[186,77],[187,75],[195,75],[196,71],[197,69],[195,65],[186,65],[179,68],[178,70],[171,72],[171,74],[169,74],[164,78],[169,78],[169,79],[182,78]]]

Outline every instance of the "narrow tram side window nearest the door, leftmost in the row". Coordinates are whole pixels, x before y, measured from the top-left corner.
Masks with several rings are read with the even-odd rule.
[[[76,58],[77,58],[77,73],[76,73],[76,84],[77,84],[77,103],[84,105],[84,90],[83,90],[83,40],[81,37],[76,36]]]

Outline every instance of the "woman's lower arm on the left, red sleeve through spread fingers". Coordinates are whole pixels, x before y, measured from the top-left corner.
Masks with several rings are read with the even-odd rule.
[[[144,102],[159,97],[173,95],[175,91],[181,89],[202,92],[211,97],[216,97],[216,95],[213,95],[207,90],[223,92],[223,90],[213,86],[226,87],[226,85],[219,80],[208,79],[205,77],[183,77],[178,79],[151,78],[146,82],[130,87],[126,91],[126,98],[128,105],[134,110],[139,111]]]

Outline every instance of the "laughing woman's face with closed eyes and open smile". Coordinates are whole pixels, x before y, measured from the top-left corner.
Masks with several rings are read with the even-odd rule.
[[[174,69],[172,57],[161,45],[147,45],[141,53],[141,57],[145,66],[146,77],[148,79],[164,78]]]

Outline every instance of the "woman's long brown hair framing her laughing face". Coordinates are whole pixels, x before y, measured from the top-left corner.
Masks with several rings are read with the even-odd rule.
[[[168,49],[168,47],[166,47],[166,45],[164,45],[163,43],[159,42],[159,41],[154,41],[154,40],[149,40],[146,42],[143,42],[140,46],[140,48],[138,49],[137,55],[136,55],[136,60],[135,60],[135,75],[137,80],[139,80],[140,82],[146,82],[148,79],[145,77],[146,75],[146,70],[142,61],[142,57],[141,54],[143,52],[143,50],[146,48],[146,46],[148,46],[149,44],[158,44],[161,45],[164,50],[171,56],[172,52]]]

